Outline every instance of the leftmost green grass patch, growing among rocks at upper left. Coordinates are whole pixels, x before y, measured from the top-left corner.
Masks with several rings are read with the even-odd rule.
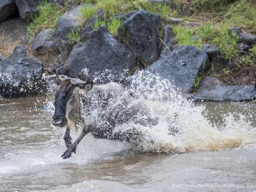
[[[65,12],[63,8],[44,1],[39,5],[38,13],[31,15],[31,22],[28,24],[29,39],[37,35],[42,29],[56,29],[56,22]]]

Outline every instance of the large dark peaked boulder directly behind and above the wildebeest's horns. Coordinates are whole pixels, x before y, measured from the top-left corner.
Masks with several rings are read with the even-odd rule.
[[[136,56],[120,44],[106,26],[101,26],[89,33],[86,42],[79,43],[72,49],[65,63],[65,74],[68,77],[77,77],[81,70],[88,68],[92,79],[107,72],[111,74],[111,79],[119,81],[134,67]],[[108,80],[101,79],[101,82]]]

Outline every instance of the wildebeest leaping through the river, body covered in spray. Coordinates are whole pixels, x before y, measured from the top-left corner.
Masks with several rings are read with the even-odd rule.
[[[150,109],[159,110],[159,103],[152,104],[145,99],[131,102],[134,98],[124,94],[125,89],[118,83],[97,85],[90,81],[87,73],[83,78],[69,78],[61,76],[60,70],[61,68],[56,71],[60,85],[56,90],[52,124],[66,126],[63,139],[67,150],[61,156],[63,159],[70,157],[72,152],[76,153],[78,143],[88,132],[92,132],[95,138],[134,141],[140,140],[143,133],[132,131],[132,127],[129,132],[113,132],[113,129],[131,121],[147,127],[157,124],[157,116],[150,115]],[[91,119],[86,119],[88,116]],[[76,128],[77,125],[82,125],[83,132],[72,143],[70,129]]]

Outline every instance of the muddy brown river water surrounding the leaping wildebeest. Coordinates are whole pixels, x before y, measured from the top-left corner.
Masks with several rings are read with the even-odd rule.
[[[0,100],[0,191],[256,191],[256,102],[193,104],[173,152],[88,134],[61,159],[64,129],[51,125],[51,107],[42,109],[52,98]]]

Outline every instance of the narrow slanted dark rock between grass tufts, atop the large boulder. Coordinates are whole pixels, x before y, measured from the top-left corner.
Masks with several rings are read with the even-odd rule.
[[[88,22],[86,22],[83,30],[81,31],[81,40],[86,40],[88,38],[88,33],[93,30],[92,26],[95,24],[95,20],[102,20],[104,13],[105,11],[100,9],[97,11],[97,13],[95,13],[95,15],[93,15],[91,19],[88,20]]]

